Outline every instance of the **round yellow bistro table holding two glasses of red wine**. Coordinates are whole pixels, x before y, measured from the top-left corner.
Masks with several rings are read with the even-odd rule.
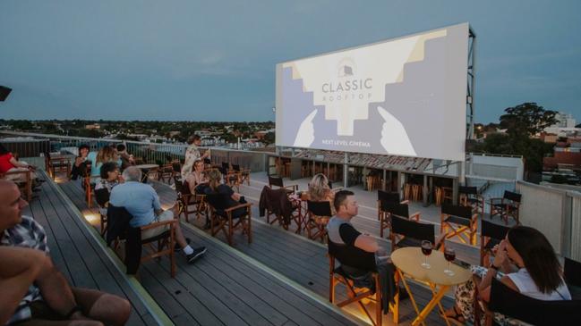
[[[399,279],[403,281],[412,305],[414,305],[415,313],[417,313],[412,325],[425,324],[426,317],[436,305],[440,307],[440,313],[443,315],[446,324],[449,325],[440,301],[450,287],[466,283],[472,277],[472,273],[466,268],[450,263],[450,270],[454,272],[454,275],[445,274],[444,270],[448,268],[448,261],[444,258],[444,254],[438,250],[432,250],[431,255],[428,256],[428,263],[431,264],[430,269],[422,267],[424,259],[425,256],[422,254],[422,248],[420,247],[404,247],[391,253],[391,261],[396,266]],[[420,281],[431,288],[431,300],[421,312],[415,303],[412,291],[407,286],[406,277]]]

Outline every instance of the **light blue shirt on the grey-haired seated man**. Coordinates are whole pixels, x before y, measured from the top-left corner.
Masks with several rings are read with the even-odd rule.
[[[161,210],[159,196],[150,185],[141,182],[127,181],[111,190],[109,203],[125,207],[133,218],[129,222],[133,228],[139,228],[154,222],[155,211]]]

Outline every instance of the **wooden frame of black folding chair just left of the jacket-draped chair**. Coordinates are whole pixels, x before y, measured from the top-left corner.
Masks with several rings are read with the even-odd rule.
[[[228,241],[228,245],[233,246],[234,243],[234,231],[237,229],[241,229],[243,234],[246,234],[248,237],[248,243],[252,243],[252,204],[240,204],[235,205],[233,207],[226,208],[224,213],[226,213],[226,217],[223,217],[216,213],[216,208],[212,205],[209,205],[210,211],[210,233],[212,237],[215,237],[219,231],[223,231],[224,235],[226,236],[226,240]],[[234,222],[232,218],[232,212],[238,208],[245,208],[246,213],[243,216],[237,218],[238,221]]]

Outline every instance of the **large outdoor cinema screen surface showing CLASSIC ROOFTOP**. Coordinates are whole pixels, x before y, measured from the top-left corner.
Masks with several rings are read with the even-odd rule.
[[[277,65],[277,146],[465,160],[468,24]]]

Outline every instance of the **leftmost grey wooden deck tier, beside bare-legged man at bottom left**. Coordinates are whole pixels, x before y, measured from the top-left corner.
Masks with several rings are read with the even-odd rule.
[[[44,227],[50,256],[72,286],[96,288],[129,299],[132,314],[128,325],[158,324],[135,285],[117,270],[52,181],[42,185],[38,198],[30,202],[24,214]]]

